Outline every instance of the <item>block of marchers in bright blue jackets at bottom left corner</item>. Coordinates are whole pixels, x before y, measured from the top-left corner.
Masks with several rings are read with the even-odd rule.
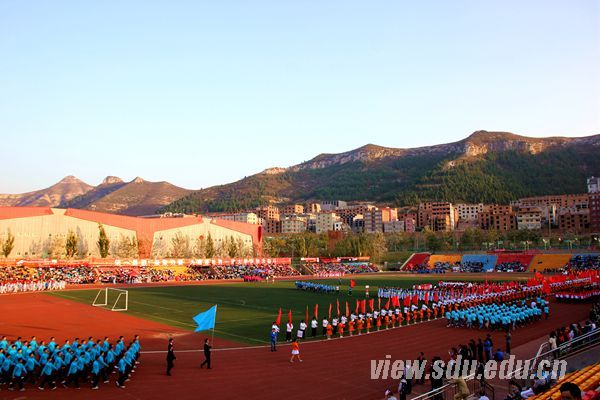
[[[129,343],[123,336],[112,343],[110,338],[75,338],[58,344],[54,337],[48,343],[21,337],[9,342],[6,336],[0,340],[0,388],[24,391],[27,384],[37,385],[39,390],[54,390],[58,384],[65,388],[80,388],[89,383],[99,389],[100,383],[108,383],[112,373],[117,374],[115,385],[125,388],[139,364],[140,340],[135,335]]]

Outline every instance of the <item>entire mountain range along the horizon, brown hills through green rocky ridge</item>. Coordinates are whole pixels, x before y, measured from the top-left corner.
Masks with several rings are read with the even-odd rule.
[[[67,176],[49,188],[0,195],[0,206],[51,206],[125,215],[239,211],[271,202],[419,201],[507,204],[519,197],[583,193],[600,174],[600,135],[531,138],[477,131],[458,142],[411,149],[368,144],[287,168],[191,191],[168,182],[108,176],[91,186]]]

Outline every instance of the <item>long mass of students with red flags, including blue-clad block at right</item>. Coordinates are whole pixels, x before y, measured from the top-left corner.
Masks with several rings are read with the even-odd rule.
[[[551,284],[547,282],[469,284],[468,287],[459,290],[379,289],[377,307],[375,307],[375,299],[362,299],[356,300],[354,310],[350,310],[346,301],[344,313],[340,310],[339,300],[336,300],[337,313],[332,315],[333,304],[329,304],[329,312],[321,321],[318,316],[318,304],[314,307],[314,316],[311,320],[309,320],[307,307],[305,318],[300,321],[296,330],[290,310],[284,327],[285,340],[292,341],[310,336],[331,339],[368,334],[438,318],[446,318],[449,326],[477,326],[468,321],[469,316],[477,316],[485,320],[484,324],[478,325],[479,328],[506,330],[507,325],[516,328],[542,317],[547,318],[550,312],[547,296],[552,292],[591,283],[592,281],[587,279],[561,279]],[[453,286],[450,284],[450,287]],[[299,289],[306,290],[300,287]],[[526,302],[529,299],[532,300],[531,303]],[[383,302],[385,303],[382,304]],[[482,313],[484,313],[483,318]],[[490,315],[486,316],[485,313]],[[516,318],[509,313],[516,314]],[[523,319],[520,319],[520,313],[524,314]],[[272,342],[276,340],[280,326],[281,309],[271,327]]]

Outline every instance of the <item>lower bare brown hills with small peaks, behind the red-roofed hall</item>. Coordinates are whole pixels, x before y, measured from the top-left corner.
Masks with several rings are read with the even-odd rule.
[[[168,182],[149,182],[139,177],[124,182],[108,176],[98,186],[91,186],[74,176],[67,176],[49,188],[35,192],[0,194],[0,206],[71,207],[148,215],[190,192]]]

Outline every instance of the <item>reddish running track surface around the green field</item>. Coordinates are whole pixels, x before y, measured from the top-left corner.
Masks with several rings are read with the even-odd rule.
[[[513,348],[544,337],[558,326],[583,320],[588,311],[589,305],[554,303],[549,320],[514,331]],[[204,336],[167,325],[40,293],[2,296],[0,315],[0,334],[9,337],[36,335],[40,340],[56,336],[62,341],[87,335],[129,338],[139,333],[143,350],[156,351],[164,350],[167,337],[173,335],[177,355],[173,376],[167,377],[164,353],[143,354],[126,389],[116,388],[114,378],[98,391],[82,386],[81,390],[40,392],[28,386],[25,392],[9,392],[4,386],[0,399],[379,399],[386,388],[395,389],[397,382],[371,380],[370,360],[388,354],[392,359],[414,359],[419,351],[424,351],[427,358],[445,358],[450,347],[485,336],[483,331],[446,328],[445,322],[438,320],[342,340],[306,343],[301,345],[302,364],[289,363],[290,349],[286,345],[281,345],[277,353],[268,348],[217,350],[213,353],[214,368],[208,371],[198,368],[201,353],[184,351],[199,349]],[[493,338],[496,346],[503,347],[502,334],[494,333]],[[215,347],[232,346],[235,343],[217,341]]]

